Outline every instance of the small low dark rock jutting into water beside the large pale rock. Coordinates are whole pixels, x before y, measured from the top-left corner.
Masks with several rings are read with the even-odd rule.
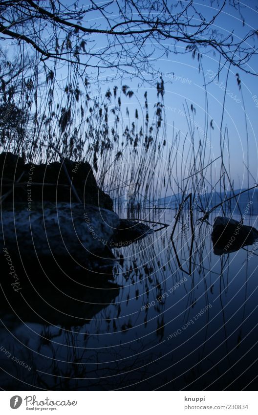
[[[119,226],[113,235],[110,246],[127,246],[150,235],[148,225],[132,219],[119,219]]]

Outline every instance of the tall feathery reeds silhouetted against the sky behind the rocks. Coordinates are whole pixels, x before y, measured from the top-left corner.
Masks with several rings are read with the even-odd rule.
[[[1,61],[7,65],[4,56]],[[188,132],[183,134],[173,125],[167,140],[162,78],[156,84],[157,100],[150,108],[147,91],[139,97],[142,102],[124,83],[108,87],[105,93],[98,87],[96,92],[96,86],[90,85],[74,64],[61,70],[57,63],[48,68],[35,62],[23,62],[20,75],[6,85],[2,83],[3,151],[19,154],[27,162],[52,162],[59,154],[86,160],[99,186],[114,200],[115,209],[126,203],[129,214],[157,208],[155,201],[166,196],[174,197],[178,207],[189,194],[198,199],[198,208],[205,214],[211,195],[218,189],[222,197],[226,192],[234,195],[229,132],[224,127],[226,92],[219,128],[220,153],[214,157],[207,90],[201,130],[193,104],[186,101],[183,111]],[[15,63],[12,65],[14,70]],[[60,73],[64,81],[58,79]],[[226,85],[229,73],[230,67]],[[239,76],[237,82],[240,85]],[[246,134],[248,143],[247,127]],[[248,154],[246,172],[249,183]],[[200,198],[201,194],[204,197]],[[241,214],[238,204],[237,209]]]

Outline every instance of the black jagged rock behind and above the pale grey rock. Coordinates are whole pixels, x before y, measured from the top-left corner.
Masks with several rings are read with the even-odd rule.
[[[112,199],[97,186],[91,166],[87,162],[76,162],[64,159],[67,172],[72,180],[78,196],[86,204],[113,209]],[[23,173],[20,184],[4,202],[27,203],[28,190],[32,201],[66,201],[77,202],[70,182],[59,162],[49,164],[24,164],[21,157],[12,153],[0,154],[0,174],[2,177],[2,195],[6,193]],[[22,185],[23,183],[23,185]],[[28,184],[28,186],[27,186]]]

